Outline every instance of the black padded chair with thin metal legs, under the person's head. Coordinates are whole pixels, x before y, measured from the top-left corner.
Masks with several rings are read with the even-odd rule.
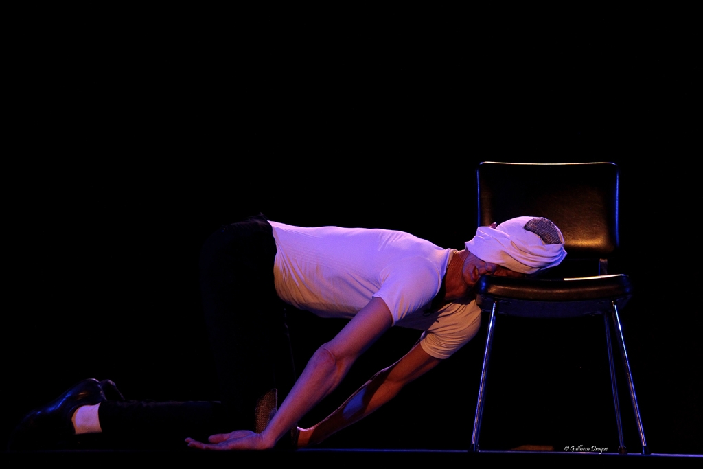
[[[619,311],[633,294],[631,279],[626,274],[609,275],[607,271],[609,257],[619,251],[619,176],[617,165],[609,162],[483,162],[477,167],[479,226],[494,221],[501,223],[513,217],[546,217],[562,231],[567,257],[543,277],[483,276],[476,286],[477,304],[490,314],[490,319],[471,439],[472,451],[481,451],[479,432],[486,401],[491,347],[496,335],[496,317],[521,316],[528,320],[544,318],[555,321],[600,315],[604,319],[605,340],[602,336],[598,340],[603,340],[607,347],[618,451],[627,453],[616,374],[624,372],[642,453],[650,454],[619,319]],[[623,366],[619,368],[613,359],[613,335],[622,359]]]

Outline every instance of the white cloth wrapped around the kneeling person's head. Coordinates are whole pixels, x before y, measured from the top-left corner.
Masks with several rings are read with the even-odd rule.
[[[548,222],[556,230],[558,240],[550,240],[534,231],[534,225]],[[536,231],[540,231],[536,229]],[[552,233],[554,234],[553,230]],[[546,238],[550,244],[545,243]],[[567,252],[564,250],[564,236],[555,224],[539,217],[517,217],[503,221],[491,228],[479,226],[476,236],[465,243],[466,249],[486,262],[492,262],[522,274],[558,265]]]

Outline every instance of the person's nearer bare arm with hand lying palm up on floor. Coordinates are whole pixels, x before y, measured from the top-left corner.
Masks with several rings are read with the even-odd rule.
[[[212,435],[209,444],[188,438],[188,446],[200,449],[273,448],[285,432],[295,428],[302,416],[339,385],[354,361],[391,325],[392,316],[385,302],[373,298],[333,340],[317,349],[262,433],[236,430]]]

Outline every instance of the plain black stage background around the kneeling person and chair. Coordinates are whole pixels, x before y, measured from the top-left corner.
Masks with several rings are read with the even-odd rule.
[[[110,378],[132,399],[217,399],[197,262],[221,224],[261,211],[461,248],[479,162],[609,161],[621,168],[620,265],[636,282],[622,319],[647,443],[703,453],[685,25],[204,7],[8,18],[5,437],[83,378]],[[291,318],[300,369],[340,325]],[[602,343],[586,338],[602,340],[600,326],[506,326],[485,446],[617,446]],[[325,445],[467,448],[484,334]],[[302,424],[416,338],[390,330]]]

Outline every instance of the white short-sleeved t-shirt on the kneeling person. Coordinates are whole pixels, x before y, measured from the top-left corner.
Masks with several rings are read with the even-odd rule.
[[[394,326],[423,330],[425,352],[446,359],[477,333],[475,301],[430,311],[453,250],[403,231],[269,221],[276,238],[276,293],[298,309],[351,319],[378,297]]]

